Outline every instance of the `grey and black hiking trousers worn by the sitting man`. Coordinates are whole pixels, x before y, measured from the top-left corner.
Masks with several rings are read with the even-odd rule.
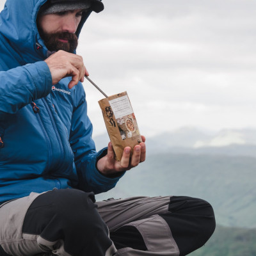
[[[54,189],[0,205],[0,256],[187,255],[215,228],[209,203],[187,196],[95,203],[93,193]]]

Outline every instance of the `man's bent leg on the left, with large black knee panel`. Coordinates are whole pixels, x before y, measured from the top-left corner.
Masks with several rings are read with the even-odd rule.
[[[15,226],[11,228],[13,232],[4,230],[10,234],[0,237],[0,244],[7,254],[29,256],[52,252],[62,256],[112,256],[116,252],[108,237],[108,227],[94,204],[93,193],[54,189],[37,196],[26,207],[15,207],[21,199],[4,205],[3,211],[0,208],[0,218],[1,214],[4,217],[9,213],[4,212],[5,206],[12,211],[12,216],[4,217],[10,227],[15,220]],[[28,211],[19,212],[19,208]],[[15,234],[15,229],[19,234]]]

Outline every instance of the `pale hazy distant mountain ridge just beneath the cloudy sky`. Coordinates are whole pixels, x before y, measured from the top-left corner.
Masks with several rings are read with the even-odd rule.
[[[108,134],[94,137],[97,150],[108,145]],[[182,127],[147,138],[147,154],[227,154],[256,156],[256,129],[225,129],[218,132]]]

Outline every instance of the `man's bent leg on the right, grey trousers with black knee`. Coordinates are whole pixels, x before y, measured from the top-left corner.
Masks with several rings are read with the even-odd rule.
[[[198,198],[137,197],[97,204],[116,255],[187,255],[204,245],[215,228],[211,205]]]

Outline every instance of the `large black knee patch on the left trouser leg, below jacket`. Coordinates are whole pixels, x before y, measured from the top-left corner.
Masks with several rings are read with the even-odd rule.
[[[105,255],[112,241],[94,204],[93,193],[54,189],[38,196],[28,209],[22,233],[64,241],[70,255]]]

